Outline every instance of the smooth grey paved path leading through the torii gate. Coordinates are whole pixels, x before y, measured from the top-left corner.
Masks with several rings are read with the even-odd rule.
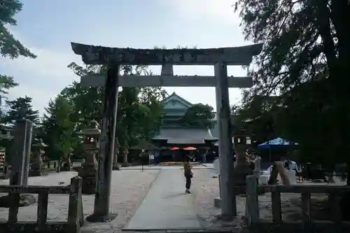
[[[181,169],[162,169],[124,230],[195,230],[201,225]]]

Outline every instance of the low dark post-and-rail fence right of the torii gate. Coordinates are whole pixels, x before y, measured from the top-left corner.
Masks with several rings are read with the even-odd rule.
[[[238,190],[237,190],[238,191]],[[242,192],[242,190],[239,190]],[[258,195],[263,192],[271,192],[272,222],[260,219]],[[302,206],[302,221],[289,222],[282,220],[281,193],[300,193]],[[350,192],[350,186],[345,185],[258,185],[256,176],[246,177],[246,220],[249,227],[259,232],[269,232],[272,228],[286,232],[300,230],[317,230],[317,232],[350,232],[350,222],[342,221],[342,212],[339,206],[339,197],[344,192]],[[312,220],[310,194],[325,193],[329,195],[331,206],[331,219],[329,221]],[[256,228],[258,227],[258,228]],[[281,229],[282,228],[282,229]],[[336,228],[336,229],[335,229]],[[342,231],[340,231],[342,232]]]

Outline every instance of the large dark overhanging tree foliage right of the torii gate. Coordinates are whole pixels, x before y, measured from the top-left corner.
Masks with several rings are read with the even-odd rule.
[[[238,0],[236,6],[246,38],[265,43],[255,57],[258,69],[249,72],[254,86],[245,108],[255,117],[272,115],[279,136],[299,143],[304,160],[349,163],[349,1]],[[279,99],[268,111],[254,105],[271,95]]]

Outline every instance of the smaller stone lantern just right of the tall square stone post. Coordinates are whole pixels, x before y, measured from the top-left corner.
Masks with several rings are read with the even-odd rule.
[[[48,145],[43,143],[42,139],[38,139],[36,143],[31,144],[33,157],[31,159],[29,176],[41,176],[43,171],[43,154],[45,154],[45,147],[48,147]]]

